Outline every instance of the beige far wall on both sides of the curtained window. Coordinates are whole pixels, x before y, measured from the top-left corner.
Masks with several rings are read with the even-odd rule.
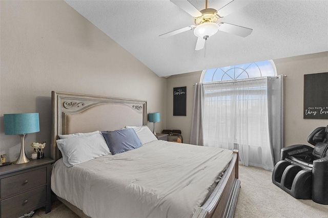
[[[318,126],[328,125],[328,120],[303,119],[304,74],[328,72],[328,52],[301,55],[273,60],[277,74],[284,78],[284,146],[308,144],[306,139]],[[199,82],[201,72],[168,77],[167,127],[181,129],[183,142],[189,143],[193,107],[193,83]],[[173,88],[187,86],[187,116],[173,116]]]

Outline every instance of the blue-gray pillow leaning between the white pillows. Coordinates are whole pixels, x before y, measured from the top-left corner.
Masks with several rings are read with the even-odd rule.
[[[101,131],[113,155],[141,147],[141,142],[132,128]]]

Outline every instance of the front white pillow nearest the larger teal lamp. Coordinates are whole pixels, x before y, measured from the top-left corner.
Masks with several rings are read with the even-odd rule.
[[[68,167],[111,154],[100,133],[58,139],[56,142],[63,155],[63,162]]]

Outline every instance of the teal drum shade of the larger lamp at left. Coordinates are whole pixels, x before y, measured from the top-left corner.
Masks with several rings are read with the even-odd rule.
[[[5,114],[5,135],[19,135],[40,131],[39,114]]]

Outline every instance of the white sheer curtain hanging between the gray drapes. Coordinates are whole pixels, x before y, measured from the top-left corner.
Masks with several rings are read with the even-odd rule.
[[[267,77],[204,83],[203,145],[237,148],[245,166],[272,170]]]

